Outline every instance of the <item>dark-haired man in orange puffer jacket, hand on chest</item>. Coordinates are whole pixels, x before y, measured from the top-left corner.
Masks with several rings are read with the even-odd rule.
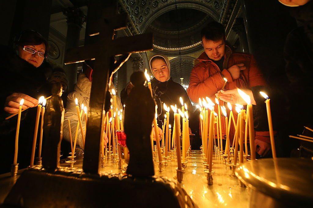
[[[210,22],[201,31],[204,52],[198,57],[199,63],[191,71],[187,93],[189,98],[198,103],[199,98],[209,97],[213,102],[215,96],[220,98],[220,104],[246,103],[237,93],[237,88],[242,89],[251,98],[251,103],[256,104],[251,88],[265,86],[266,82],[258,69],[257,63],[251,54],[232,53],[225,45],[225,30],[219,22]],[[222,87],[228,80],[225,90]],[[234,109],[234,107],[233,107]],[[218,111],[217,105],[215,112]],[[235,120],[237,113],[233,111]],[[264,115],[266,116],[266,115]],[[225,138],[225,120],[222,122],[222,135]],[[230,138],[233,138],[235,129],[230,128]],[[270,150],[268,131],[256,131],[255,149],[259,155],[265,156]]]

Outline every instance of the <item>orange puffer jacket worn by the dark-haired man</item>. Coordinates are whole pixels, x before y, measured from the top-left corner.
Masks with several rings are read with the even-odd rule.
[[[193,67],[190,74],[189,87],[187,89],[187,94],[192,102],[198,103],[199,98],[209,97],[213,102],[215,101],[215,93],[222,89],[224,85],[223,78],[225,77],[228,82],[225,86],[225,90],[235,89],[235,88],[248,88],[251,89],[254,86],[265,86],[266,82],[263,78],[263,74],[259,70],[254,57],[247,53],[232,53],[231,49],[226,46],[224,55],[223,69],[220,70],[218,66],[208,58],[205,52],[203,52],[199,57],[199,63]],[[240,72],[239,79],[233,80],[228,68],[235,65],[243,63],[246,66],[245,70]],[[224,102],[219,100],[221,105]],[[237,112],[234,110],[233,114],[235,121],[237,121]],[[218,107],[215,105],[215,112],[218,112]],[[229,110],[228,110],[229,116]],[[225,138],[225,118],[222,117],[222,134]],[[231,124],[230,128],[230,139],[233,139],[235,128]],[[264,142],[270,143],[268,132],[256,132],[256,139],[262,140]]]

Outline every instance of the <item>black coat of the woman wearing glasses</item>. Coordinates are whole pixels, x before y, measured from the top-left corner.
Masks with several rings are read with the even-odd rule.
[[[24,93],[36,99],[42,95],[50,96],[51,90],[46,74],[52,70],[47,63],[35,68],[27,61],[19,58],[14,51],[6,46],[0,46],[0,49],[0,67],[3,77],[0,82],[0,158],[2,159],[0,173],[3,173],[9,172],[10,165],[13,163],[18,117],[14,116],[5,120],[10,115],[3,110],[5,99],[14,92]],[[27,167],[30,162],[36,113],[37,107],[22,112],[18,141],[19,168]]]

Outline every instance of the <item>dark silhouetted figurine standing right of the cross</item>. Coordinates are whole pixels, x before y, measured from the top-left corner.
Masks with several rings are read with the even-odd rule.
[[[126,144],[130,152],[127,174],[137,177],[154,175],[150,133],[155,116],[155,103],[144,86],[146,77],[142,71],[131,75],[134,88],[125,102]]]

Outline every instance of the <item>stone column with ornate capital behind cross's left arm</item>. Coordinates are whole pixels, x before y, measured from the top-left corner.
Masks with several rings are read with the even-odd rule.
[[[86,17],[77,7],[64,9],[63,14],[66,15],[67,19],[65,49],[78,47],[80,30]],[[64,70],[69,81],[68,92],[73,91],[77,82],[77,64],[64,65]]]

